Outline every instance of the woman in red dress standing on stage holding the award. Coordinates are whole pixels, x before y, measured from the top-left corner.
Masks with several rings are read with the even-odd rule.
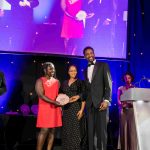
[[[36,82],[36,92],[39,97],[37,127],[41,128],[37,139],[37,150],[42,150],[46,137],[47,149],[51,150],[56,127],[62,126],[60,104],[56,101],[59,90],[59,81],[54,78],[55,68],[52,63],[43,65],[44,76]]]

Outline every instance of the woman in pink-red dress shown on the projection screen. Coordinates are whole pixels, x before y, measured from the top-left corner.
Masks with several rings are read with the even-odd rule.
[[[77,20],[76,15],[82,8],[82,0],[61,0],[61,7],[64,11],[63,25],[61,31],[61,37],[64,38],[65,49],[68,50],[71,47],[68,46],[70,39],[78,39],[83,37],[83,21]],[[75,43],[73,45],[72,52],[74,54],[76,49]]]

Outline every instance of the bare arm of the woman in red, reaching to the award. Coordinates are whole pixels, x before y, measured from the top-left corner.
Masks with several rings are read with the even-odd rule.
[[[56,106],[60,106],[59,102],[53,101],[44,95],[44,88],[43,88],[43,84],[42,84],[41,79],[37,80],[36,85],[35,85],[35,90],[36,90],[38,97],[41,98],[42,100],[44,100],[45,102],[54,104]]]

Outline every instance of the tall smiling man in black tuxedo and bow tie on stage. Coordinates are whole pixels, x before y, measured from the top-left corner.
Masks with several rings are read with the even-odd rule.
[[[83,54],[88,61],[88,68],[84,73],[89,150],[106,150],[108,106],[112,93],[111,75],[106,63],[96,61],[92,47],[85,47]]]

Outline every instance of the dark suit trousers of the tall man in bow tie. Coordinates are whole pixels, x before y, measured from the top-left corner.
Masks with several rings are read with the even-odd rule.
[[[107,110],[99,111],[93,105],[87,108],[89,150],[106,150],[107,147]],[[94,137],[97,143],[94,144]]]

